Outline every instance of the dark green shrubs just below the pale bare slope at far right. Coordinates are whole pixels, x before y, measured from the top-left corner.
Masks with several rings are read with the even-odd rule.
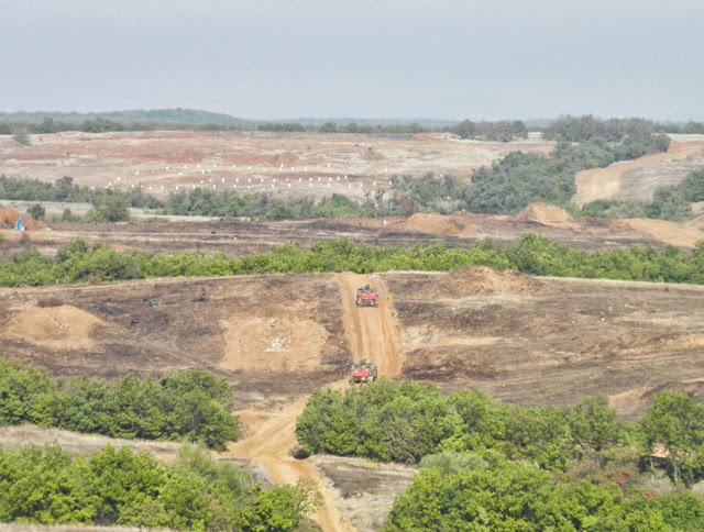
[[[654,218],[682,222],[694,212],[691,203],[704,201],[704,170],[694,170],[679,185],[656,190],[652,201],[596,200],[582,207],[581,213],[603,218]]]

